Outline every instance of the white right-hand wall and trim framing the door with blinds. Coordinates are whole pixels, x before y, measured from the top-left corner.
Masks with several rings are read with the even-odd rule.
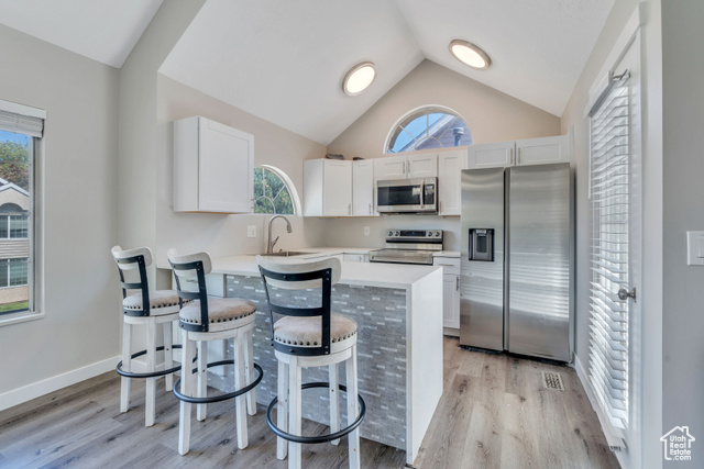
[[[562,115],[562,130],[574,126],[574,155],[576,166],[576,359],[588,367],[588,282],[591,208],[588,187],[588,121],[584,119],[592,85],[602,78],[618,35],[638,5],[637,0],[619,0],[604,25],[604,30],[587,60]],[[639,293],[641,317],[635,317],[639,331],[634,331],[631,345],[642,353],[631,357],[630,367],[637,378],[631,382],[631,433],[628,451],[618,453],[627,468],[660,467],[662,448],[662,91],[661,91],[661,29],[660,0],[644,2],[647,23],[644,26],[641,72],[644,86],[644,259],[642,286]],[[609,64],[609,66],[613,64]],[[639,336],[639,337],[638,337]],[[634,340],[638,337],[638,340]],[[584,383],[585,388],[587,383]]]

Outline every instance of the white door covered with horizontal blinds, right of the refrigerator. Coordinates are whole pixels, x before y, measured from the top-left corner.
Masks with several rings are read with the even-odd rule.
[[[612,70],[620,76],[592,112],[592,248],[588,377],[609,432],[640,435],[642,178],[640,38]]]

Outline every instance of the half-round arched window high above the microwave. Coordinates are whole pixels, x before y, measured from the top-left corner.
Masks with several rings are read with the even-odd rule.
[[[426,105],[404,115],[386,137],[385,153],[472,145],[464,119],[450,108]]]

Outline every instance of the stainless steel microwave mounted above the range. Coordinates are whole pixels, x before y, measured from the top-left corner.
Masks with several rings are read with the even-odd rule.
[[[377,181],[376,206],[380,213],[438,213],[438,178]]]

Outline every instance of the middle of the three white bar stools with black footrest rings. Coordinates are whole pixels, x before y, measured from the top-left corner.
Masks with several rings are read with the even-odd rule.
[[[182,308],[179,313],[179,326],[183,331],[182,364],[193,361],[195,346],[198,343],[198,386],[196,387],[194,382],[194,373],[185,371],[174,387],[174,394],[180,400],[178,453],[185,455],[190,447],[191,404],[198,404],[197,418],[204,421],[208,403],[233,398],[237,409],[238,447],[244,449],[249,444],[245,407],[250,415],[256,413],[254,388],[262,381],[264,373],[252,358],[252,331],[256,306],[251,301],[239,298],[208,298],[206,275],[212,270],[208,253],[178,255],[176,249],[169,249],[167,256],[174,269],[178,297],[183,300],[197,300]],[[180,280],[193,277],[198,279],[198,291],[185,291]],[[228,338],[234,339],[234,359],[209,364],[207,343]],[[207,369],[222,365],[234,365],[235,391],[208,397]],[[254,379],[254,369],[258,371],[256,379]],[[178,391],[179,382],[180,391]],[[195,397],[194,388],[196,388]]]

